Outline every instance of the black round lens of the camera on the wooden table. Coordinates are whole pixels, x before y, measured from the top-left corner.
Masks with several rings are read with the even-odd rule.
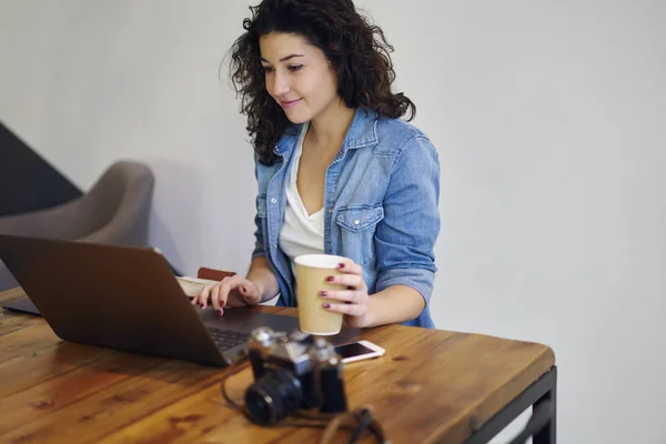
[[[245,405],[252,421],[275,424],[301,405],[301,382],[286,369],[269,371],[245,392]]]

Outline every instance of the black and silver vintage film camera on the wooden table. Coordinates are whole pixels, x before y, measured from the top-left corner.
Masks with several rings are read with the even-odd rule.
[[[255,423],[275,424],[296,408],[346,411],[343,364],[325,339],[259,327],[252,332],[249,355],[254,383],[245,392],[245,405]]]

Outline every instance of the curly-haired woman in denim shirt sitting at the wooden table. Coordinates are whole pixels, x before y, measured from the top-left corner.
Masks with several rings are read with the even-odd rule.
[[[323,293],[346,324],[434,326],[440,168],[431,141],[398,120],[416,112],[382,30],[352,0],[263,0],[232,48],[232,79],[255,151],[252,264],[192,303],[219,315],[280,295],[295,306],[293,259],[349,258]]]

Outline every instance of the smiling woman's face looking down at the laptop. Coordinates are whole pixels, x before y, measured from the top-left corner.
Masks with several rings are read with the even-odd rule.
[[[271,32],[259,39],[266,90],[293,123],[337,105],[337,78],[324,52],[299,34]]]

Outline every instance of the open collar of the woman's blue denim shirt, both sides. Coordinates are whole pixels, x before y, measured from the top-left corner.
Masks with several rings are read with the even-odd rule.
[[[275,154],[287,157],[291,154],[299,140],[303,123],[291,127],[275,145]],[[347,150],[377,144],[377,112],[367,108],[356,108],[352,124],[342,143],[340,155]]]

